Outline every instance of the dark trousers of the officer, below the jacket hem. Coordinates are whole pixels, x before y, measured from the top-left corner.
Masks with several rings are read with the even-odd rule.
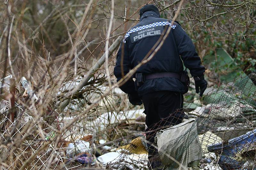
[[[146,140],[148,145],[149,169],[160,166],[155,146],[156,132],[170,125],[180,124],[184,117],[183,95],[173,91],[156,91],[142,96],[146,114]]]

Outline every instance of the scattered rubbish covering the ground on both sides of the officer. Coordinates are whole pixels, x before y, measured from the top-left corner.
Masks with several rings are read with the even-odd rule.
[[[155,140],[159,157],[156,159],[161,160],[162,169],[256,169],[256,86],[251,75],[239,77],[232,83],[224,83],[216,88],[210,87],[201,99],[193,97],[194,100],[185,103],[183,108],[186,113],[183,123],[162,127],[157,131]],[[4,82],[1,86],[6,93],[10,93],[10,79],[11,76],[1,81]],[[70,83],[61,90],[68,91],[72,85]],[[18,108],[17,116],[14,122],[8,124],[10,99],[0,102],[1,115],[4,115],[0,123],[1,141],[4,144],[10,139],[14,126],[17,127],[15,134],[27,129],[29,133],[25,133],[26,140],[20,146],[22,152],[18,150],[14,153],[25,155],[27,160],[30,160],[31,152],[36,155],[31,167],[148,169],[144,132],[147,128],[146,115],[142,107],[131,108],[126,104],[128,101],[125,94],[118,89],[112,91],[114,98],[103,98],[92,112],[70,103],[64,110],[65,114],[52,109],[46,110],[46,115],[52,114],[48,119],[29,113],[35,110],[36,103],[41,102],[40,97],[36,96],[25,77],[22,77],[19,85],[22,89],[17,88],[17,94],[20,94],[17,96],[33,104],[24,112],[23,105],[15,103]],[[99,83],[97,89],[94,89],[95,96],[88,94],[82,103],[93,103],[105,90],[107,88]],[[189,91],[190,96],[193,93]],[[81,102],[76,98],[74,101]],[[122,104],[126,107],[123,110],[103,109],[104,106],[109,109]],[[70,109],[82,111],[69,113]],[[11,138],[16,137],[13,135]],[[45,149],[37,152],[42,146]],[[0,151],[3,154],[9,153],[6,149]],[[1,168],[8,169],[5,166]]]

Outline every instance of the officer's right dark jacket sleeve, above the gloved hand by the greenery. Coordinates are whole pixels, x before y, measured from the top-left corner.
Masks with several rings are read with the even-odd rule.
[[[201,59],[196,52],[192,40],[178,24],[172,32],[185,67],[190,70],[190,74],[193,77],[203,76],[205,68],[201,65]]]

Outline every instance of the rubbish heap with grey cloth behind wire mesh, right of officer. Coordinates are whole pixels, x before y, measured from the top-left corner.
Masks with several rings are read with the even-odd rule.
[[[198,160],[200,166],[190,168],[256,169],[255,99],[256,86],[249,75],[231,86],[225,84],[208,92],[203,101],[189,103],[184,109],[187,114],[184,125],[159,132],[157,143],[163,168],[181,169]],[[179,128],[183,129],[176,132]],[[172,136],[173,133],[177,135]],[[198,139],[199,148],[195,143]]]

